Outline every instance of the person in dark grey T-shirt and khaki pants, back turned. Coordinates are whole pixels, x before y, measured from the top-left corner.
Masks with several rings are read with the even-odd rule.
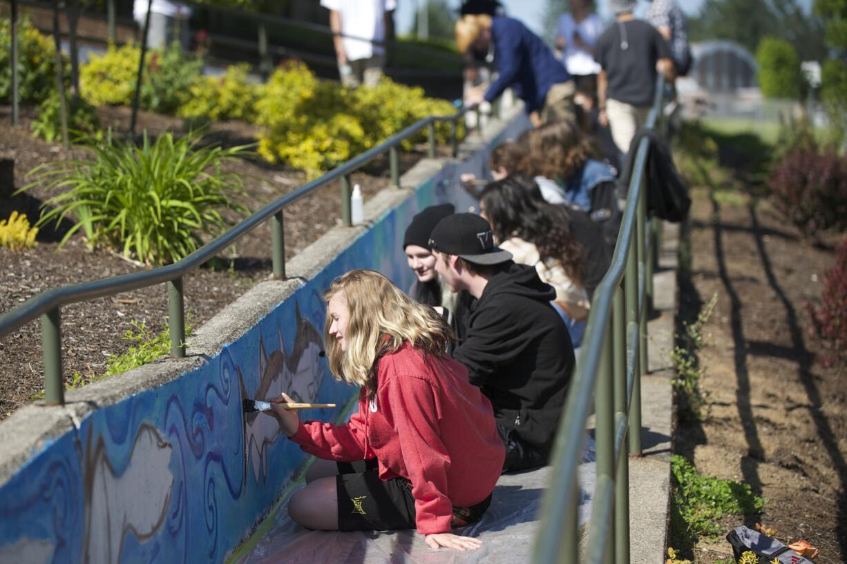
[[[612,0],[615,22],[597,40],[595,60],[600,124],[612,129],[617,149],[626,154],[635,131],[645,124],[656,91],[656,70],[673,80],[667,41],[650,24],[635,19],[634,0]]]

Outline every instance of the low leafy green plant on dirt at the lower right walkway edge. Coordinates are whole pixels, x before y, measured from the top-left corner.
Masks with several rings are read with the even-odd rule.
[[[750,484],[709,478],[683,456],[671,456],[673,475],[672,528],[684,527],[691,535],[721,534],[720,519],[728,515],[757,516],[765,500],[753,495]],[[683,523],[673,523],[673,519]],[[679,533],[679,531],[676,531]]]

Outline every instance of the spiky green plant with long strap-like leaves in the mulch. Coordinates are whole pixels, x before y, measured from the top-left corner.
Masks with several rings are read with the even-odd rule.
[[[60,241],[83,229],[91,246],[107,246],[148,264],[172,263],[219,235],[228,222],[219,210],[247,213],[231,202],[241,178],[222,165],[245,156],[247,147],[199,147],[197,132],[175,140],[171,133],[140,147],[108,138],[91,143],[91,156],[47,163],[30,171],[34,181],[62,191],[45,202],[37,225],[74,216]]]

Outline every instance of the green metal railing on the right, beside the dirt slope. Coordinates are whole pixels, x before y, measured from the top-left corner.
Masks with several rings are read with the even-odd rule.
[[[646,126],[662,119],[664,80]],[[579,562],[579,483],[586,424],[595,406],[597,479],[584,561],[629,562],[628,455],[641,454],[641,375],[647,372],[647,313],[658,231],[647,220],[645,165],[650,141],[637,147],[612,264],[595,290],[583,347],[556,434],[551,484],[540,515],[534,564]],[[650,241],[653,240],[653,241]]]

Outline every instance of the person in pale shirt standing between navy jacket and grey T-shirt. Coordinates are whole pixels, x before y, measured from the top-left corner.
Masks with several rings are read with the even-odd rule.
[[[574,102],[589,113],[595,106],[597,74],[594,47],[603,32],[603,23],[594,12],[592,0],[568,0],[569,11],[559,16],[556,47],[564,52],[562,63],[576,82]]]

